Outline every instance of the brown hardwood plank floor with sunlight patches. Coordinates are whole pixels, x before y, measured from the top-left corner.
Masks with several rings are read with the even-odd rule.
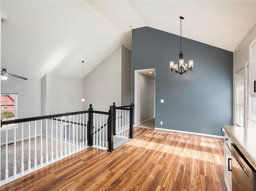
[[[88,148],[1,191],[226,191],[224,139],[134,128],[113,153]]]

